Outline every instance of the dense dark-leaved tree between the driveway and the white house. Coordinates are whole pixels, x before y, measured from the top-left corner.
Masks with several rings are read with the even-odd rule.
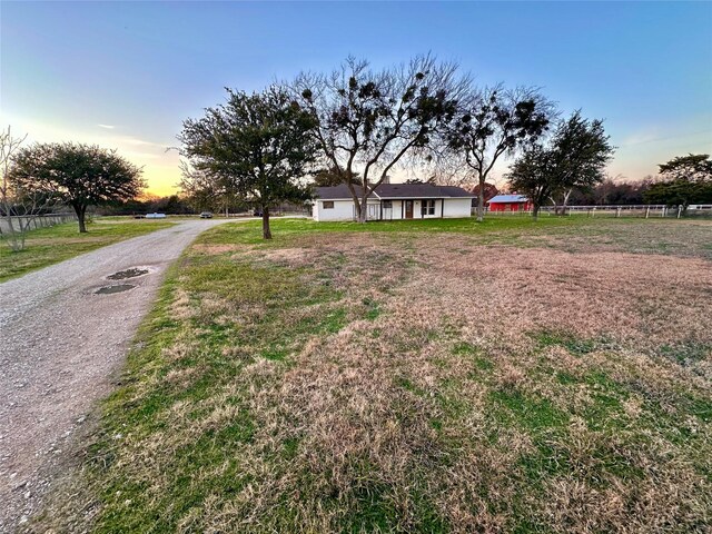
[[[253,95],[228,89],[225,105],[184,122],[180,154],[192,169],[184,182],[258,207],[270,239],[270,206],[309,196],[300,179],[317,150],[314,127],[314,116],[279,87]]]

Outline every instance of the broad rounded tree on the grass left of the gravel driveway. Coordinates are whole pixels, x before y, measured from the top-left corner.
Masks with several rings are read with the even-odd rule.
[[[146,186],[141,169],[116,150],[72,142],[21,149],[13,158],[11,176],[24,191],[56,196],[71,206],[80,233],[87,231],[89,206],[135,198]]]

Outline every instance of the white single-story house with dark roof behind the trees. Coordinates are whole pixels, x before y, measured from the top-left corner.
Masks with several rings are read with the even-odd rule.
[[[363,192],[354,186],[356,194]],[[368,220],[469,217],[473,195],[461,187],[432,184],[382,184],[367,200]],[[346,184],[317,187],[314,220],[354,220],[356,206]]]

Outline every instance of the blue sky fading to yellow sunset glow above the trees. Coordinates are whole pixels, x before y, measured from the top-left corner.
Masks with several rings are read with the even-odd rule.
[[[478,83],[533,85],[605,119],[630,179],[712,152],[712,2],[0,4],[2,126],[29,141],[117,148],[174,192],[181,122],[348,55],[432,51]],[[498,169],[502,172],[504,168]]]

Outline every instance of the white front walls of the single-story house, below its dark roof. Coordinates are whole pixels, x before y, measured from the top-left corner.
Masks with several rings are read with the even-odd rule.
[[[334,202],[333,208],[325,208],[324,202]],[[469,217],[471,198],[446,198],[434,199],[435,210],[433,214],[423,215],[424,199],[413,200],[413,218],[414,219],[438,219],[441,217]],[[444,207],[444,211],[441,210]],[[368,200],[369,218],[380,217],[380,201],[377,199]],[[320,200],[317,199],[312,206],[312,217],[314,220],[354,220],[354,201],[353,200]],[[384,220],[398,220],[405,218],[405,200],[392,200],[392,208],[383,209]]]

